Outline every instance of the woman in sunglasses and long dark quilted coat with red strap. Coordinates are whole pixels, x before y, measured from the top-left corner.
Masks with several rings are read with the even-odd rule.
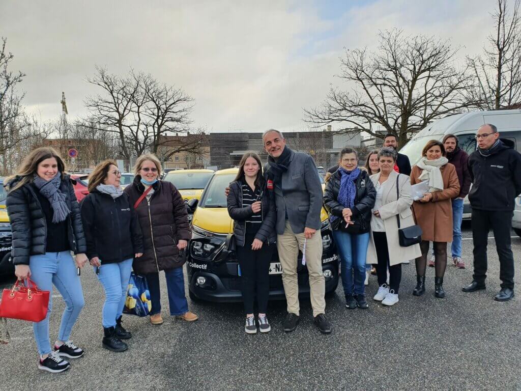
[[[198,319],[188,310],[184,296],[184,249],[190,240],[187,208],[181,194],[168,181],[159,180],[161,163],[154,154],[138,157],[135,178],[125,188],[135,207],[143,232],[144,251],[132,264],[134,272],[146,277],[152,310],[150,322],[163,323],[159,272],[165,271],[170,315],[188,322]]]

